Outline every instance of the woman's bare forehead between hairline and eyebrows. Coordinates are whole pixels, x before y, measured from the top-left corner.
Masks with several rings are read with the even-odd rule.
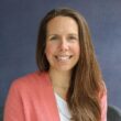
[[[55,16],[47,23],[47,32],[78,32],[76,21],[70,16]]]

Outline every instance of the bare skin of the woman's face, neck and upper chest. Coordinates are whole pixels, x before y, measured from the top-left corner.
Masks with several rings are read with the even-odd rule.
[[[78,26],[68,16],[56,16],[47,23],[45,54],[54,91],[66,99],[72,69],[80,54]]]

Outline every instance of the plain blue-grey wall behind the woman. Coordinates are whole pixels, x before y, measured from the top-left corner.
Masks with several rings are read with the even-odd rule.
[[[0,106],[15,78],[37,69],[38,24],[48,10],[57,7],[72,7],[85,15],[108,88],[109,105],[121,108],[121,0],[1,0]]]

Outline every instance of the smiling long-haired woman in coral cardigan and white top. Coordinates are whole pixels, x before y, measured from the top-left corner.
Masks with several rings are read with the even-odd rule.
[[[13,81],[4,121],[107,121],[107,89],[86,20],[54,9],[41,22],[38,72]]]

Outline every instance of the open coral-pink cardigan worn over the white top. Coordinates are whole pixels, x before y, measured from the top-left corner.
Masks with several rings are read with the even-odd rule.
[[[102,120],[107,121],[107,95],[101,97]],[[33,73],[12,82],[3,121],[59,121],[47,73]]]

